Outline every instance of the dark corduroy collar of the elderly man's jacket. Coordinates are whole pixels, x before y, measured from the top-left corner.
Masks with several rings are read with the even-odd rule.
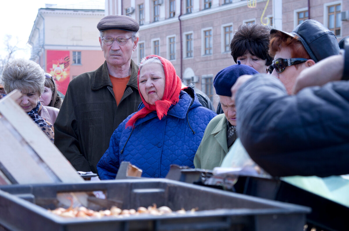
[[[131,59],[131,77],[127,83],[127,86],[131,86],[138,89],[137,76],[138,76],[138,65],[136,65]],[[109,78],[107,62],[104,61],[103,65],[98,67],[98,69],[95,71],[95,74],[92,77],[91,90],[99,90],[106,86],[112,87],[112,84]]]

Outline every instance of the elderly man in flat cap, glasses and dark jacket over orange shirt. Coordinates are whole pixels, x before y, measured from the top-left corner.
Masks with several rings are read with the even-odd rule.
[[[76,170],[94,173],[112,133],[141,102],[138,65],[131,59],[139,24],[125,15],[108,15],[97,29],[105,62],[69,83],[54,124],[57,148]]]

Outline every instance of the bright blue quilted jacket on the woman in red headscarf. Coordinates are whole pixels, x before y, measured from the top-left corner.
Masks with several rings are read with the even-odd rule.
[[[125,129],[128,116],[111,136],[109,148],[97,164],[99,178],[115,179],[120,163],[129,161],[143,177],[165,177],[171,164],[194,167],[193,159],[205,128],[216,113],[201,106],[191,88],[180,92],[179,102],[159,120],[156,112]],[[144,107],[140,105],[139,110]]]

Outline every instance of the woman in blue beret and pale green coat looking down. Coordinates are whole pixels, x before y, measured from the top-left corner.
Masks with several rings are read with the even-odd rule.
[[[250,66],[240,64],[240,61],[237,62],[238,64],[228,66],[218,72],[213,81],[224,113],[213,118],[207,125],[194,157],[195,168],[213,169],[220,166],[238,137],[236,109],[231,99],[230,88],[240,75],[258,72]]]

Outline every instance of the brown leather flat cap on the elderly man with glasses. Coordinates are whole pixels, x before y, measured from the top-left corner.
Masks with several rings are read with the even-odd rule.
[[[135,31],[139,30],[138,22],[126,15],[107,15],[97,24],[99,31],[105,30],[124,30]]]

